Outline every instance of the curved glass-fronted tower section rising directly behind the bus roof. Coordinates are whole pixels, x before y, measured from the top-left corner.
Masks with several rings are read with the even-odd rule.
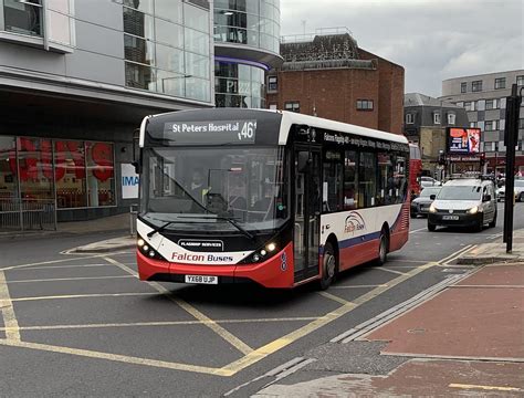
[[[265,108],[265,72],[279,55],[280,0],[214,0],[218,107]]]

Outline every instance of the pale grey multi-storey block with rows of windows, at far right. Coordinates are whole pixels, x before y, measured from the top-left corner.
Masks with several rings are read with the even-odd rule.
[[[513,84],[524,87],[524,70],[449,78],[442,82],[441,100],[464,107],[470,127],[479,127],[481,151],[489,172],[504,172],[506,97]],[[524,106],[524,104],[523,104]],[[516,146],[516,169],[524,171],[524,111],[521,107]]]

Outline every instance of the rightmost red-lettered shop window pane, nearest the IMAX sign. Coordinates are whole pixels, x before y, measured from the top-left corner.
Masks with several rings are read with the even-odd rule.
[[[115,205],[113,144],[85,143],[87,165],[87,206]]]

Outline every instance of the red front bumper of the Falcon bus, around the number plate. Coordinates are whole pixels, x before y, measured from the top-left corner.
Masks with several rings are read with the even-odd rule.
[[[142,281],[185,283],[186,275],[208,275],[218,276],[219,284],[255,282],[264,287],[273,289],[294,286],[292,243],[266,261],[253,264],[180,264],[149,259],[139,251],[136,256]]]

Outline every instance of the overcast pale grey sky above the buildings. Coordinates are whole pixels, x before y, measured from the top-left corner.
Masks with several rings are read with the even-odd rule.
[[[281,34],[347,27],[358,46],[400,64],[406,93],[442,80],[524,69],[524,0],[281,0]]]

